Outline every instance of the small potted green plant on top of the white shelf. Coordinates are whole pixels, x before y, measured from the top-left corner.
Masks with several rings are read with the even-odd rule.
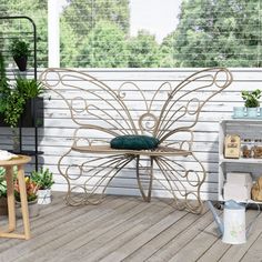
[[[256,89],[254,91],[242,91],[241,94],[244,100],[248,117],[256,118],[260,107],[259,99],[261,98],[261,90]]]

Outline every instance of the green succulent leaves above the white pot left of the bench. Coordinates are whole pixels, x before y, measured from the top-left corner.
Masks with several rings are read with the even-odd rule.
[[[43,170],[43,168],[41,168],[40,171],[32,171],[31,180],[40,190],[51,189],[54,183],[52,172],[50,172],[49,169]]]

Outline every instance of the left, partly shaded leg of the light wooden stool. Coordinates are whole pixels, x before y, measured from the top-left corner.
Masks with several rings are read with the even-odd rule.
[[[13,195],[13,167],[6,168],[7,179],[7,196],[8,196],[8,230],[9,232],[16,229],[16,209]]]

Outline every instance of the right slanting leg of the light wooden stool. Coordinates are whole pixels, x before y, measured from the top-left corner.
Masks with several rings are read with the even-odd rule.
[[[21,199],[21,210],[22,210],[24,236],[26,236],[26,240],[29,240],[31,234],[30,234],[28,199],[27,199],[27,191],[26,191],[23,165],[18,165],[18,182],[19,182],[19,189],[20,189],[20,199]]]

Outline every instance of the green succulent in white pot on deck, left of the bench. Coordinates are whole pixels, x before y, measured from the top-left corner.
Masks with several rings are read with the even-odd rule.
[[[49,169],[41,168],[40,171],[32,171],[31,180],[38,184],[38,203],[51,203],[51,187],[54,183],[53,174]]]

